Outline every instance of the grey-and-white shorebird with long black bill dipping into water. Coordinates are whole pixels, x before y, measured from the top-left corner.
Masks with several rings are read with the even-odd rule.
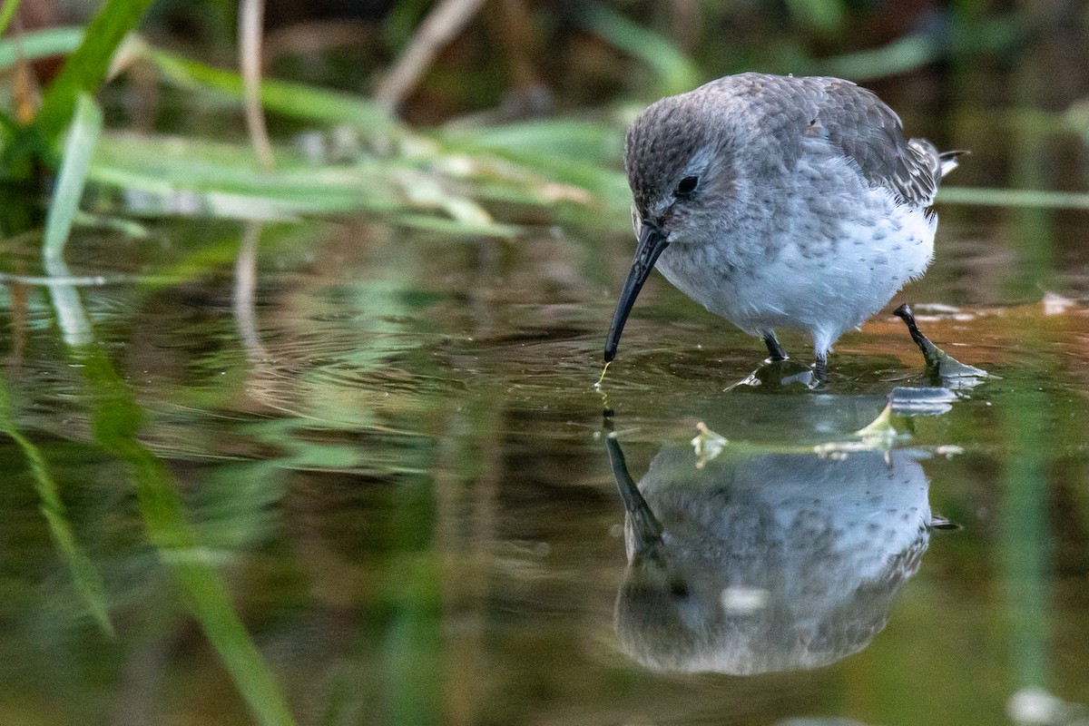
[[[787,358],[807,331],[812,382],[828,354],[933,258],[939,184],[963,151],[905,138],[872,91],[824,76],[741,73],[663,98],[627,131],[638,239],[604,347],[656,267],[678,290]]]

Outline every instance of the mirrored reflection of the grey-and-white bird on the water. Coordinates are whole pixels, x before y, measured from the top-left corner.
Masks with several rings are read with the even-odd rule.
[[[862,650],[919,567],[931,515],[915,451],[731,454],[666,446],[639,484],[607,438],[626,510],[621,648],[653,670],[751,675]]]

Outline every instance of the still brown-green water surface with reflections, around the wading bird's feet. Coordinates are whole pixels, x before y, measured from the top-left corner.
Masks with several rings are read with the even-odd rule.
[[[1089,220],[940,211],[926,392],[888,312],[735,386],[661,278],[595,387],[626,236],[84,233],[0,288],[0,723],[1076,723]]]

